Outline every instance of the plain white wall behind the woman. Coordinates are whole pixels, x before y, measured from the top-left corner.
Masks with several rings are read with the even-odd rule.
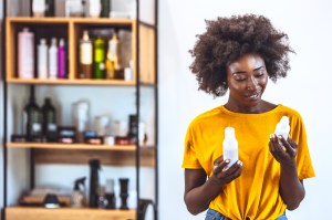
[[[260,13],[287,32],[297,55],[289,76],[270,83],[263,98],[298,109],[307,125],[317,177],[304,181],[307,196],[290,219],[329,219],[332,184],[331,39],[328,0],[160,0],[159,1],[159,219],[204,219],[190,216],[183,201],[183,143],[188,123],[199,113],[225,103],[197,91],[188,66],[195,35],[205,31],[205,19],[238,13]]]

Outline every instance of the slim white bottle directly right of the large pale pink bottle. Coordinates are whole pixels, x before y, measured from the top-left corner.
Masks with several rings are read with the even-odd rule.
[[[48,78],[48,44],[45,39],[40,40],[40,44],[38,45],[38,77],[39,78]]]

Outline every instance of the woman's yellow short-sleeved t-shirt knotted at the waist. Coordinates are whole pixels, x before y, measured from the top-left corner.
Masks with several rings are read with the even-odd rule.
[[[294,109],[278,105],[260,114],[234,113],[224,106],[197,116],[189,125],[183,168],[204,169],[212,175],[214,160],[222,155],[224,129],[236,130],[239,159],[243,163],[239,178],[220,188],[220,195],[209,208],[230,219],[272,220],[280,217],[286,205],[279,195],[280,164],[269,151],[270,134],[286,115],[290,119],[290,136],[298,143],[299,179],[314,177],[304,124]]]

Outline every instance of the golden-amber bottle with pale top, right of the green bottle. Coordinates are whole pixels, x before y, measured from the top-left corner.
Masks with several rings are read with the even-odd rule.
[[[107,78],[115,78],[115,71],[120,70],[120,42],[116,33],[108,41],[106,56],[106,75]]]

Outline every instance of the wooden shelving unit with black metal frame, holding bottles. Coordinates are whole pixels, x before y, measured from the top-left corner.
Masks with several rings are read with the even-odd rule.
[[[141,181],[141,168],[154,169],[154,197],[149,198],[154,203],[154,220],[157,220],[158,207],[158,174],[157,174],[157,0],[154,1],[155,23],[147,24],[139,20],[139,0],[137,0],[138,19],[92,19],[92,18],[30,18],[30,17],[7,17],[7,7],[10,1],[4,1],[3,30],[6,48],[2,50],[3,62],[3,81],[4,81],[4,138],[3,138],[3,198],[4,210],[2,210],[2,220],[143,220],[141,210],[105,210],[92,208],[59,208],[45,209],[38,207],[18,207],[8,206],[8,154],[9,150],[28,150],[30,154],[30,182],[31,188],[34,185],[34,166],[39,164],[86,164],[87,160],[98,158],[102,165],[122,167],[129,166],[135,168],[137,207],[141,202],[141,189],[144,188]],[[35,42],[41,38],[64,38],[68,42],[68,78],[61,80],[41,80],[41,78],[19,78],[17,64],[17,42],[18,32],[23,27],[28,27],[35,32]],[[131,54],[133,61],[133,77],[129,81],[124,80],[94,80],[77,78],[79,72],[79,39],[83,30],[93,29],[124,29],[132,34]],[[53,34],[53,35],[52,35]],[[89,86],[89,93],[95,87],[127,87],[135,91],[136,114],[138,118],[145,112],[142,108],[143,90],[148,90],[153,94],[154,118],[152,122],[153,144],[141,146],[137,142],[135,145],[89,145],[89,144],[60,144],[60,143],[12,143],[8,142],[12,130],[8,126],[12,123],[8,119],[10,108],[9,88],[11,86]],[[14,117],[14,116],[13,116]],[[10,117],[9,117],[10,118]],[[138,129],[138,126],[137,126]],[[138,139],[138,136],[137,136]]]

